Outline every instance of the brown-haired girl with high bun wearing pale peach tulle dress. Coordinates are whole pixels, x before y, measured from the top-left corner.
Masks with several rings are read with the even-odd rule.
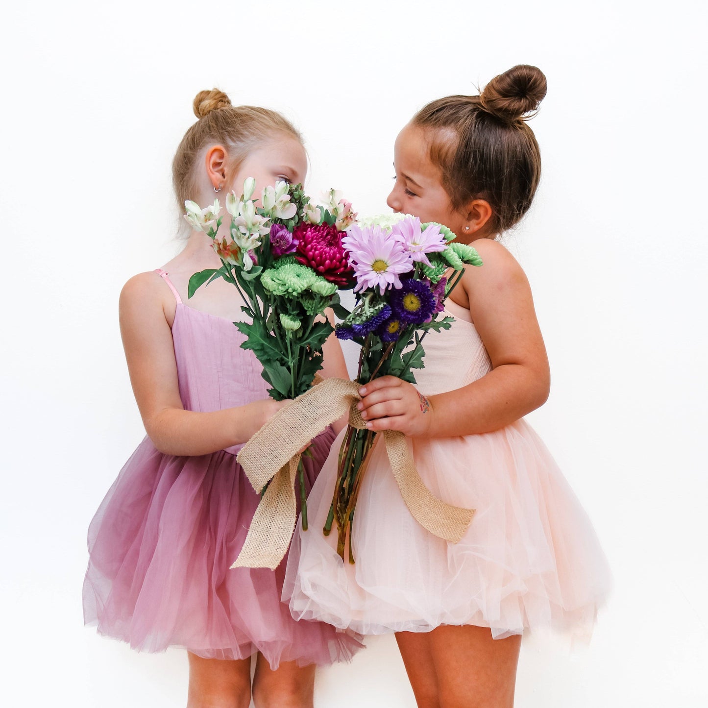
[[[426,708],[512,706],[521,635],[587,634],[609,583],[586,513],[523,420],[547,399],[549,366],[527,278],[497,240],[539,183],[526,120],[545,93],[539,69],[513,67],[479,96],[428,103],[394,147],[392,210],[445,224],[484,265],[447,299],[455,321],[426,338],[417,386],[374,379],[358,407],[370,430],[409,437],[428,489],[474,508],[472,523],[457,544],[418,525],[377,445],[359,488],[355,564],[336,534],[296,532],[287,569],[295,617],[396,632]],[[340,442],[309,496],[314,528],[329,512]]]

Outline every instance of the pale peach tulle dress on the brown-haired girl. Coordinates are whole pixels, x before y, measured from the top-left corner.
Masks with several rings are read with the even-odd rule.
[[[450,330],[425,339],[418,388],[433,395],[491,369],[469,311],[448,301]],[[457,544],[423,529],[406,508],[381,441],[360,489],[353,523],[356,563],[336,553],[324,526],[336,476],[338,436],[297,530],[283,599],[294,617],[362,634],[427,632],[441,624],[490,627],[495,638],[559,629],[587,638],[610,573],[590,520],[536,433],[520,420],[484,435],[410,440],[428,489],[475,508]]]

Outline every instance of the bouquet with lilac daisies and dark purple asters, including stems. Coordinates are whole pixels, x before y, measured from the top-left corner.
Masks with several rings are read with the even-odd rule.
[[[336,336],[361,346],[358,384],[385,375],[416,383],[413,370],[423,367],[423,339],[431,330],[449,329],[453,321],[439,316],[445,298],[462,278],[466,263],[482,263],[472,246],[454,239],[455,234],[442,224],[421,224],[407,215],[364,220],[342,239],[358,295],[352,312],[336,326]],[[447,278],[449,270],[452,275]],[[367,428],[348,426],[324,527],[329,535],[336,520],[338,554],[344,558],[348,539],[351,563],[351,525],[376,435]]]

